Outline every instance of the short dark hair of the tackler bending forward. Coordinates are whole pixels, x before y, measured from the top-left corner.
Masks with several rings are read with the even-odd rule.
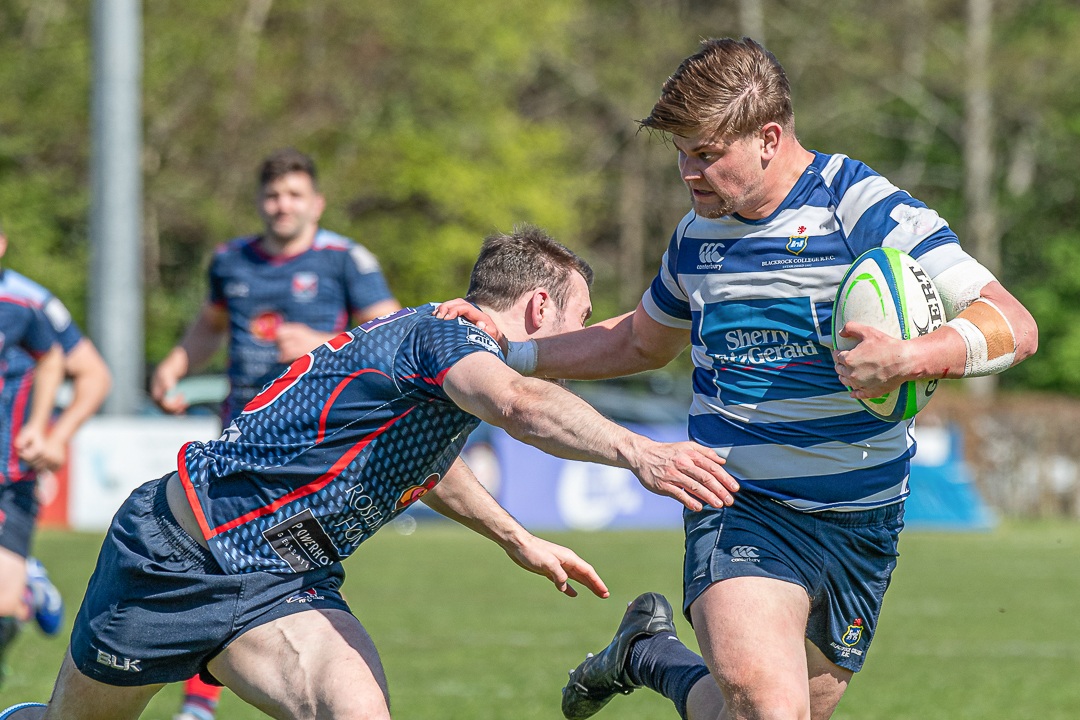
[[[545,287],[562,313],[570,298],[573,272],[593,284],[593,269],[566,246],[536,226],[514,226],[512,234],[496,233],[484,240],[465,300],[502,312],[526,293]]]

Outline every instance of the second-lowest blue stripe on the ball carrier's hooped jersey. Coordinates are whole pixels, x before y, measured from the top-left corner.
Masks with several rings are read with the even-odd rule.
[[[690,416],[690,434],[712,447],[787,445],[808,448],[822,443],[853,445],[880,435],[892,425],[865,410],[831,418],[762,423],[737,422],[718,415]]]

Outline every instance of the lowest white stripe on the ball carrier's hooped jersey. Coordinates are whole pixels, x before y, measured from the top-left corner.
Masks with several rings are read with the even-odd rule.
[[[714,448],[727,458],[725,470],[743,480],[836,475],[883,465],[903,456],[913,440],[907,423],[891,425],[861,443],[822,443],[808,448],[792,445],[743,445]],[[860,499],[860,502],[865,499]]]

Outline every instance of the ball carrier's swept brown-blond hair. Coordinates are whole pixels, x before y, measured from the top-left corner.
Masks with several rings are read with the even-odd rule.
[[[792,90],[777,58],[750,38],[710,38],[664,82],[643,127],[731,138],[770,122],[794,130]]]

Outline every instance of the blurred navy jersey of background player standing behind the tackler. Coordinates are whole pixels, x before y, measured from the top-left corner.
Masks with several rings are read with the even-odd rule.
[[[210,301],[229,316],[225,424],[285,369],[274,344],[282,323],[338,332],[349,327],[350,314],[392,298],[375,256],[328,230],[320,229],[298,255],[267,255],[259,236],[219,247],[210,267]]]

